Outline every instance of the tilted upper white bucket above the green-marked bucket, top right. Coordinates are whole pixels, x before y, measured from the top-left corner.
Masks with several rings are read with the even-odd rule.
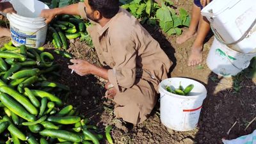
[[[230,48],[242,53],[256,50],[255,0],[214,0],[201,13],[226,43],[236,42],[249,29],[248,35]]]

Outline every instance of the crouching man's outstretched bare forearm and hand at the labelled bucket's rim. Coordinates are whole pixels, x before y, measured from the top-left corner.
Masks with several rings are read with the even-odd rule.
[[[54,8],[50,10],[42,10],[40,17],[44,17],[46,24],[49,24],[56,15],[69,14],[69,15],[80,15],[79,4],[71,4],[63,8]]]

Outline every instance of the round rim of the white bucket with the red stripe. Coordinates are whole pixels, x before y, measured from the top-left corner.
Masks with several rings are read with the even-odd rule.
[[[189,78],[187,78],[187,77],[171,77],[171,78],[168,78],[168,79],[164,79],[164,80],[161,81],[161,83],[159,84],[159,92],[160,92],[160,93],[163,92],[164,94],[166,94],[166,95],[168,95],[168,96],[177,97],[177,98],[179,98],[179,99],[198,99],[198,97],[200,97],[201,99],[203,99],[203,97],[204,97],[204,99],[205,99],[205,98],[207,97],[207,90],[206,90],[204,84],[199,83],[198,81],[195,81],[194,79],[189,79],[189,80],[194,81],[195,83],[198,83],[199,85],[201,85],[201,86],[204,88],[203,92],[200,93],[199,95],[194,95],[194,96],[192,96],[192,95],[186,95],[186,96],[185,96],[185,95],[177,95],[177,94],[175,94],[175,93],[170,93],[170,92],[168,92],[167,90],[165,90],[165,89],[163,88],[162,85],[163,85],[164,81],[170,81],[170,80],[172,80],[172,79],[189,79]]]

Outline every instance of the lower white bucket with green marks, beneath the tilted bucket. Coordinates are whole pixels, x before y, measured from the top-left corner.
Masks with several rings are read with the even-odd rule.
[[[215,74],[231,77],[247,68],[254,56],[256,56],[256,52],[243,54],[230,49],[214,38],[206,63]]]

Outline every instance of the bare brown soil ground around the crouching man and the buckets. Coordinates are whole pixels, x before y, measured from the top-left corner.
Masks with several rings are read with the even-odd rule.
[[[181,0],[175,6],[182,6],[191,12],[192,1]],[[256,129],[256,122],[248,125],[256,116],[256,79],[246,77],[248,70],[244,70],[236,77],[223,78],[212,73],[205,63],[207,54],[212,44],[211,37],[204,45],[204,61],[197,67],[186,65],[190,47],[195,38],[191,38],[181,45],[175,44],[177,36],[166,36],[157,28],[145,26],[161,47],[173,61],[170,77],[189,77],[196,79],[207,88],[207,98],[204,100],[198,126],[193,131],[179,132],[167,131],[161,124],[159,102],[152,111],[150,117],[143,124],[134,127],[125,127],[113,114],[113,102],[104,99],[105,81],[95,76],[80,77],[70,74],[68,70],[68,60],[56,56],[56,61],[61,63],[60,82],[70,86],[70,96],[65,102],[77,106],[77,109],[87,118],[90,124],[97,125],[102,134],[104,126],[114,125],[112,132],[115,143],[222,143],[221,138],[233,139],[244,134],[250,134]],[[186,28],[184,28],[186,30]],[[0,38],[0,47],[10,38]],[[44,45],[51,52],[53,47],[47,38]],[[100,65],[95,53],[95,49],[86,44],[74,40],[70,42],[71,52],[76,58],[91,61]],[[233,124],[235,124],[232,127]],[[244,130],[248,126],[246,130]],[[232,129],[230,130],[230,128]],[[228,130],[230,132],[227,134]],[[108,143],[106,140],[102,143]]]

